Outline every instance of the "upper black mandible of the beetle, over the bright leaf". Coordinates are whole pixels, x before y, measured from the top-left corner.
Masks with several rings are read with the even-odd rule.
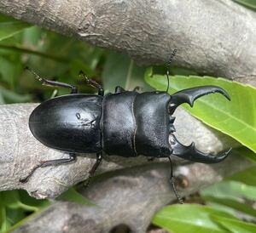
[[[212,93],[223,94],[225,98],[230,100],[230,95],[223,88],[219,88],[217,86],[201,86],[196,88],[188,88],[172,94],[170,114],[172,115],[178,105],[187,103],[191,107],[193,107],[195,99]]]

